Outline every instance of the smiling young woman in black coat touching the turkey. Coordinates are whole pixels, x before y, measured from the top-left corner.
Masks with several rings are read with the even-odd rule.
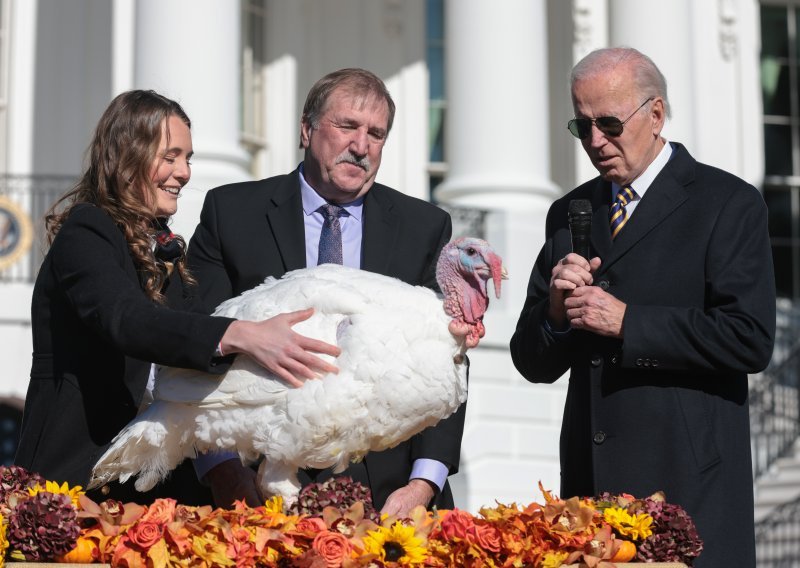
[[[191,156],[189,118],[153,91],[121,94],[101,117],[86,171],[45,218],[51,246],[33,291],[33,363],[17,465],[85,486],[136,415],[151,363],[222,372],[221,354],[268,361],[264,322],[183,311],[192,308],[193,280],[184,241],[166,222],[189,181]],[[327,344],[314,347],[338,354]],[[129,482],[95,495],[140,503],[161,496],[211,503],[188,462],[152,493]]]

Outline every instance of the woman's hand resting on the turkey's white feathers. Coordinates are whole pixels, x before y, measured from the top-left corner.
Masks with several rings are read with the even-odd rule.
[[[293,387],[326,373],[338,373],[336,366],[314,353],[338,357],[341,350],[330,343],[312,339],[292,330],[314,313],[313,308],[280,314],[260,322],[235,321],[220,342],[222,352],[246,353],[268,371]]]

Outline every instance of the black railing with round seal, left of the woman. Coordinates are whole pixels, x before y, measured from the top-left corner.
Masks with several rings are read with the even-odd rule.
[[[0,283],[33,282],[45,251],[42,218],[75,178],[0,175]]]

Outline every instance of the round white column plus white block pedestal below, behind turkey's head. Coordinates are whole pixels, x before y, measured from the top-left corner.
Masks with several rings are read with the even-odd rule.
[[[470,352],[454,491],[459,507],[477,511],[495,498],[533,501],[539,479],[558,487],[558,421],[550,414],[560,416],[563,397],[522,380],[508,342],[544,240],[547,209],[561,191],[550,179],[544,0],[447,0],[445,18],[449,170],[436,197],[493,210],[487,240],[510,275],[502,299],[493,298],[486,314],[486,337]]]

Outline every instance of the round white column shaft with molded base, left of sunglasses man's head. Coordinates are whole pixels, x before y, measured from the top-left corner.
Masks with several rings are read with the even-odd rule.
[[[441,201],[546,208],[550,180],[547,26],[543,0],[447,0],[449,173]]]

